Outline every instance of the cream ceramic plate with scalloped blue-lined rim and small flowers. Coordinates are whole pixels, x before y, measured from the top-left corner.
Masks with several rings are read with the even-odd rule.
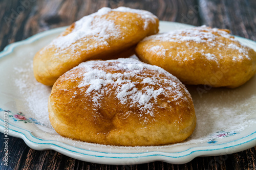
[[[160,22],[161,32],[189,27],[193,26]],[[115,147],[61,137],[49,123],[47,100],[51,87],[36,82],[32,60],[40,48],[63,30],[36,34],[8,45],[0,53],[0,130],[7,132],[4,127],[8,127],[5,135],[22,138],[35,150],[55,150],[75,159],[103,164],[181,164],[198,156],[231,154],[256,145],[256,76],[236,89],[187,86],[194,100],[197,127],[182,143]],[[256,51],[254,41],[236,39]]]

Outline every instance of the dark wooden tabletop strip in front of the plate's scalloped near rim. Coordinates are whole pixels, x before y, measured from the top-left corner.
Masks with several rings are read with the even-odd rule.
[[[3,134],[0,135],[1,147],[3,146]],[[166,162],[151,162],[138,165],[103,165],[79,161],[58,152],[36,151],[30,149],[19,138],[9,136],[9,164],[3,166],[0,161],[0,169],[255,169],[256,147],[229,155],[197,157],[185,164],[170,164]],[[0,157],[4,157],[1,150]]]

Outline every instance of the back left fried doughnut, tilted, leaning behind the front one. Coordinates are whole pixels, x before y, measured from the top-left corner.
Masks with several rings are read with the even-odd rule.
[[[102,8],[74,22],[65,32],[36,53],[36,80],[54,82],[79,63],[134,54],[135,45],[158,32],[158,18],[144,10]]]

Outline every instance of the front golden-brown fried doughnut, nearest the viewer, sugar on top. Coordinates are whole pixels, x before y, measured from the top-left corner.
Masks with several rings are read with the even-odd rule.
[[[60,135],[100,144],[176,143],[196,126],[186,87],[132,58],[91,60],[69,70],[53,85],[48,109]]]

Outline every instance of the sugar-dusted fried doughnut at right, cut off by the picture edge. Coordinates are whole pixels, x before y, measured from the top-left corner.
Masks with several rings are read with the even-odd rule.
[[[184,84],[234,88],[255,74],[256,53],[228,33],[202,26],[157,34],[138,43],[136,54]]]

